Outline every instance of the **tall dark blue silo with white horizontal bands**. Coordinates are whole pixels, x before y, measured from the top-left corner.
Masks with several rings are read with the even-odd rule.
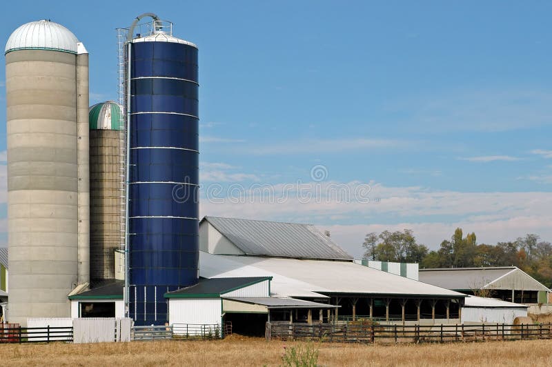
[[[168,321],[164,293],[197,283],[199,257],[197,47],[173,37],[172,24],[152,24],[130,40],[128,313],[137,325]]]

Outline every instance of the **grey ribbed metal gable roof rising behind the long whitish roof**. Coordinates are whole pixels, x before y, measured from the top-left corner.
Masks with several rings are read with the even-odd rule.
[[[204,217],[246,255],[299,259],[353,259],[310,224]]]

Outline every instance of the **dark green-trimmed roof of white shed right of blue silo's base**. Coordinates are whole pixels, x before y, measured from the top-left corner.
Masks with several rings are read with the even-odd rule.
[[[165,293],[166,298],[210,298],[220,297],[224,293],[245,288],[261,281],[271,280],[272,277],[228,277],[205,279],[200,278],[195,286],[181,288]]]

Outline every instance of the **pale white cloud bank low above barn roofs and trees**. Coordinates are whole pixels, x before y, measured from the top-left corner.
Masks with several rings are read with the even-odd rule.
[[[288,190],[287,199],[279,200],[290,184],[259,185],[255,195],[244,188],[242,197],[236,197],[235,191],[232,198],[219,196],[216,200],[213,197],[208,200],[202,197],[200,212],[202,216],[318,224],[322,229],[331,230],[332,238],[355,256],[362,253],[360,244],[367,232],[386,229],[412,229],[430,248],[436,248],[443,239],[451,237],[457,227],[475,231],[480,243],[494,244],[529,232],[552,240],[550,192],[457,192],[415,186],[386,187],[371,182],[368,185],[371,189],[366,192],[370,201],[364,202],[354,197],[339,201],[324,195],[327,188],[336,183],[302,185],[305,188],[310,184],[314,186],[306,192],[313,194],[311,199],[300,200],[298,190]],[[354,192],[367,184],[353,181],[341,185]],[[320,199],[315,199],[317,192],[322,193]],[[266,195],[275,195],[275,198],[268,200]]]

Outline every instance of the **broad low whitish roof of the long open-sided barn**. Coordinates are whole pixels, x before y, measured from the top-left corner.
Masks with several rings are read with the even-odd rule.
[[[338,293],[463,298],[459,292],[389,274],[351,261],[211,255],[199,252],[199,275],[273,277],[273,297],[327,298]]]

